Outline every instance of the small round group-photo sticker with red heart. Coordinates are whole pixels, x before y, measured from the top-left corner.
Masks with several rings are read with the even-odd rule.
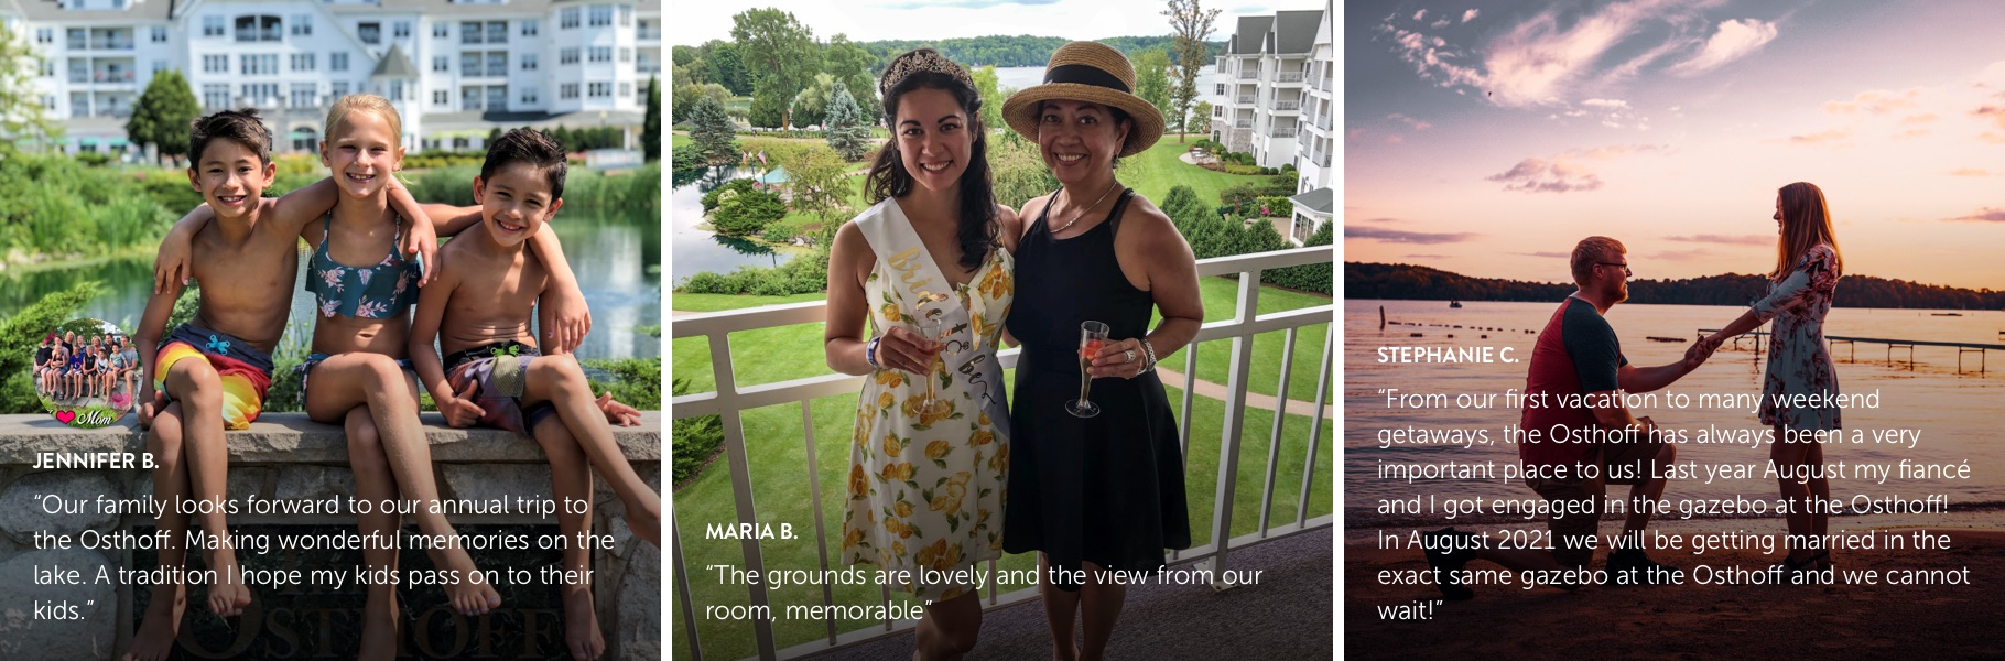
[[[74,318],[34,341],[34,395],[56,423],[98,429],[132,413],[138,347],[116,324]]]

